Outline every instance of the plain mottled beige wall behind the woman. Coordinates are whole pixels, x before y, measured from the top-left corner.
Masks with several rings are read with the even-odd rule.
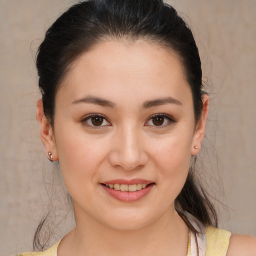
[[[210,85],[206,136],[218,156],[205,140],[210,156],[205,169],[215,177],[208,179],[210,190],[230,207],[229,213],[220,207],[220,227],[256,235],[256,1],[169,2],[192,24]],[[39,94],[34,54],[45,29],[70,3],[0,0],[0,255],[31,250],[47,206],[42,170],[49,174],[51,164],[35,121]],[[221,185],[216,186],[218,175],[223,195]]]

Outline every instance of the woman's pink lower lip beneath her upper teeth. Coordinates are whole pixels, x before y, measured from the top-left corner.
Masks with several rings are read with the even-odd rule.
[[[154,183],[149,184],[145,188],[142,188],[140,190],[134,191],[134,192],[129,192],[129,191],[120,191],[120,190],[115,190],[113,188],[109,188],[103,184],[100,184],[103,189],[112,197],[119,201],[123,202],[133,202],[141,199],[145,195],[147,195],[151,188],[155,185]]]

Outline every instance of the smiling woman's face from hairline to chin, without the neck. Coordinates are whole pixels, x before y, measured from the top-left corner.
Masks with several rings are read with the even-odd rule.
[[[76,218],[132,229],[173,214],[197,133],[176,54],[107,41],[79,57],[62,82],[49,150]]]

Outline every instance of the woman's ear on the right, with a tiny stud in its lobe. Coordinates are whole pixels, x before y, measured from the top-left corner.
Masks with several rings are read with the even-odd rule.
[[[191,155],[195,155],[200,151],[201,142],[205,132],[205,124],[206,124],[208,108],[209,108],[209,96],[207,94],[203,94],[202,97],[203,97],[203,109],[202,109],[201,117],[198,120],[195,127],[193,140],[191,144]]]

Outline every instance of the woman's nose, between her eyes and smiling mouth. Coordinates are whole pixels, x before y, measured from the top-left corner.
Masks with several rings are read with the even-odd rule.
[[[144,150],[143,136],[135,127],[126,127],[116,132],[113,137],[113,148],[109,154],[112,166],[125,170],[134,170],[147,162]]]

